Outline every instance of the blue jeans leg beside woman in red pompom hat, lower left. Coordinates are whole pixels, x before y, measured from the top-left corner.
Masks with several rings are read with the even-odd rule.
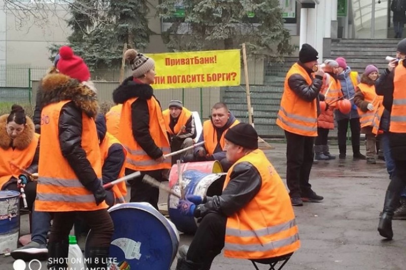
[[[35,208],[32,207],[31,241],[46,245],[47,235],[51,228],[51,214],[48,212],[35,211],[34,209]]]

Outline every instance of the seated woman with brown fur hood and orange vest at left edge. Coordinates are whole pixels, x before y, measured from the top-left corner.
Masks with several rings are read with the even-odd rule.
[[[9,114],[0,117],[0,189],[20,191],[24,187],[28,209],[35,201],[37,183],[26,172],[38,171],[39,138],[24,109],[14,104]],[[21,205],[23,206],[21,200]]]

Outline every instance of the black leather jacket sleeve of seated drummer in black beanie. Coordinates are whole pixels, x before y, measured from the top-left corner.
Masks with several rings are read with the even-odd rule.
[[[194,211],[195,217],[204,217],[214,212],[231,216],[246,206],[261,189],[262,179],[258,170],[249,162],[234,166],[230,181],[220,196],[207,197]]]

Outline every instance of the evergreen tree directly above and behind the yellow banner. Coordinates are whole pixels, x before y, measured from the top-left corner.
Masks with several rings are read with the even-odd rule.
[[[250,54],[279,58],[294,50],[279,0],[162,0],[157,8],[172,22],[162,34],[172,51],[239,49],[245,43]]]

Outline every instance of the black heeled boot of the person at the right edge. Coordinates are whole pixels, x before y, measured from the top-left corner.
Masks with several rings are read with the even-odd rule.
[[[394,181],[394,180],[392,180]],[[399,189],[401,190],[401,189]],[[384,211],[379,219],[378,232],[382,237],[389,240],[393,237],[392,231],[392,217],[397,205],[399,204],[400,191],[386,190]]]

